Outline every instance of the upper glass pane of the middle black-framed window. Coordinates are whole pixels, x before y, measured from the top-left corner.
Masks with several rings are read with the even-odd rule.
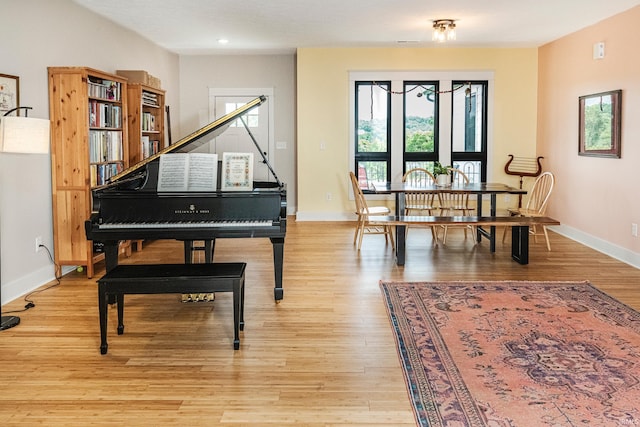
[[[404,93],[405,152],[433,153],[437,87],[434,84],[406,82]]]

